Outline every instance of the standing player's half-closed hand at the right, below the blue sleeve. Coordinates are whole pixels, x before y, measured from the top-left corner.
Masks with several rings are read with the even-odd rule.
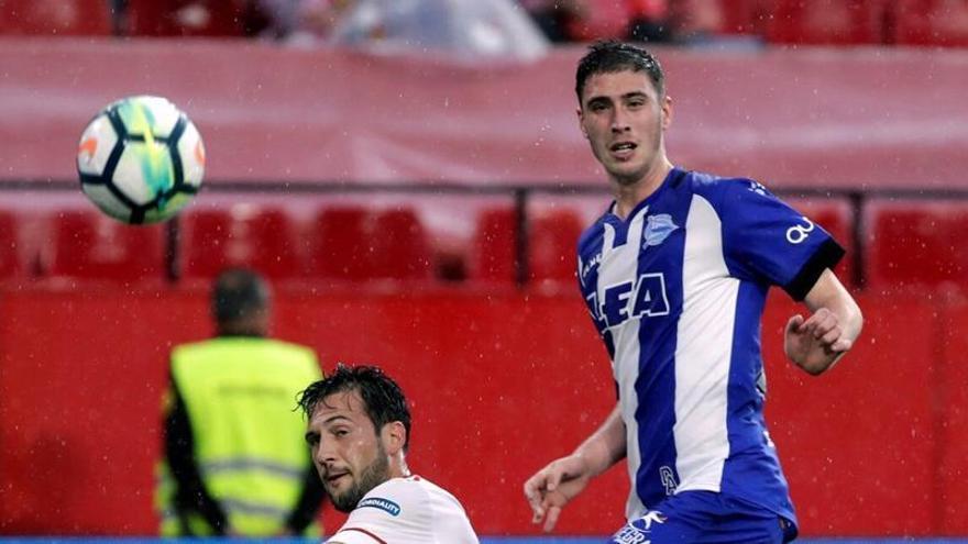
[[[836,313],[820,308],[809,319],[794,315],[787,322],[783,351],[790,360],[810,374],[826,370],[854,342],[844,335]]]

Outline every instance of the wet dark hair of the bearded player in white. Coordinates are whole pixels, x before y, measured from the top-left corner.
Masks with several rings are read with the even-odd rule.
[[[337,365],[336,371],[326,378],[314,381],[299,393],[298,406],[307,418],[312,417],[316,407],[330,395],[359,391],[366,408],[366,415],[377,433],[383,425],[399,421],[407,430],[404,451],[410,444],[410,409],[404,390],[389,376],[375,366]]]

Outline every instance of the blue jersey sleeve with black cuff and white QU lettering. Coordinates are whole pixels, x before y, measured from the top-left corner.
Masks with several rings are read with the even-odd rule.
[[[762,185],[749,179],[721,181],[723,251],[743,279],[777,285],[803,300],[844,248],[818,224]]]

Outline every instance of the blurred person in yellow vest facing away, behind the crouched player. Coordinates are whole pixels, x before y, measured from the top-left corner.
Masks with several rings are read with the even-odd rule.
[[[312,349],[272,340],[255,273],[216,278],[217,336],[175,346],[156,507],[163,536],[318,536],[324,496],[294,410],[322,377]]]

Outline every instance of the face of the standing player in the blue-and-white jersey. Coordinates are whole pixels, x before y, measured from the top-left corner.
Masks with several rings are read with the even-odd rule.
[[[645,71],[593,75],[578,114],[592,153],[613,181],[634,185],[664,163],[672,100],[659,96]]]

